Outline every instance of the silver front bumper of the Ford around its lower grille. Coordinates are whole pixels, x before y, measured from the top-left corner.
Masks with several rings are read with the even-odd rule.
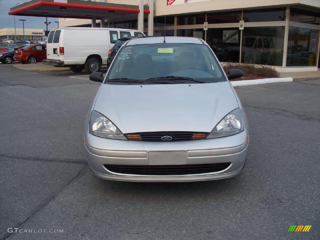
[[[175,181],[205,181],[230,178],[238,175],[245,163],[248,149],[248,131],[234,136],[193,140],[181,142],[140,142],[111,140],[86,134],[85,147],[87,160],[92,173],[102,179],[137,182],[175,182]],[[102,145],[108,146],[102,148]],[[225,145],[225,147],[223,147]],[[232,146],[233,145],[233,146]],[[184,152],[183,159],[155,159],[154,152]],[[109,171],[104,164],[114,165],[176,165],[176,164],[215,164],[231,163],[219,172],[185,175],[140,175],[124,174]]]

